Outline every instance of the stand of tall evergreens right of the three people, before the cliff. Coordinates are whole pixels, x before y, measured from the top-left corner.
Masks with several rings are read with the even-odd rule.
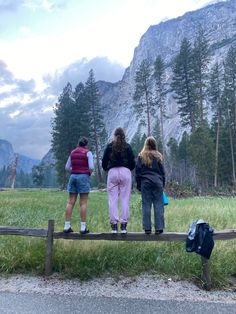
[[[168,82],[166,71],[160,56],[154,64],[143,60],[136,71],[133,99],[147,135],[154,132],[151,116],[156,123],[159,120],[159,143],[169,180],[204,190],[235,187],[236,48],[230,47],[221,62],[213,60],[206,33],[200,27],[193,43],[182,40],[171,62]],[[186,129],[179,142],[171,138],[165,143],[168,94],[175,99],[181,125]],[[136,145],[143,142],[143,135],[138,137],[137,133]]]

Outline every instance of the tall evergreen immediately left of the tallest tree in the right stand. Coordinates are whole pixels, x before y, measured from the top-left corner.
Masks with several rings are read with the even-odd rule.
[[[189,40],[183,39],[180,52],[174,59],[173,80],[171,87],[174,98],[179,105],[182,126],[190,126],[194,132],[197,124],[198,110],[194,86],[193,50]]]

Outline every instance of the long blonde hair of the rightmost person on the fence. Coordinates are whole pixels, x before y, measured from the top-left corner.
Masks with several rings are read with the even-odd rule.
[[[146,138],[139,156],[141,157],[144,165],[147,167],[152,166],[153,157],[156,157],[160,162],[163,161],[162,154],[157,150],[157,142],[153,136]]]

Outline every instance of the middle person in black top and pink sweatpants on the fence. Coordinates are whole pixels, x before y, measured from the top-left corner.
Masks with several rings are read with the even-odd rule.
[[[135,160],[122,128],[115,130],[113,141],[105,148],[102,167],[108,171],[107,191],[112,233],[117,233],[118,222],[121,223],[121,233],[126,233],[132,185],[131,171],[135,168]],[[119,201],[120,218],[118,215]]]

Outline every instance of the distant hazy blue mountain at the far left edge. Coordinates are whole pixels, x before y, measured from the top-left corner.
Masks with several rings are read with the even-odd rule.
[[[0,139],[0,169],[11,166],[15,160],[17,160],[16,171],[24,173],[30,173],[32,167],[40,163],[39,160],[15,153],[11,143]]]

